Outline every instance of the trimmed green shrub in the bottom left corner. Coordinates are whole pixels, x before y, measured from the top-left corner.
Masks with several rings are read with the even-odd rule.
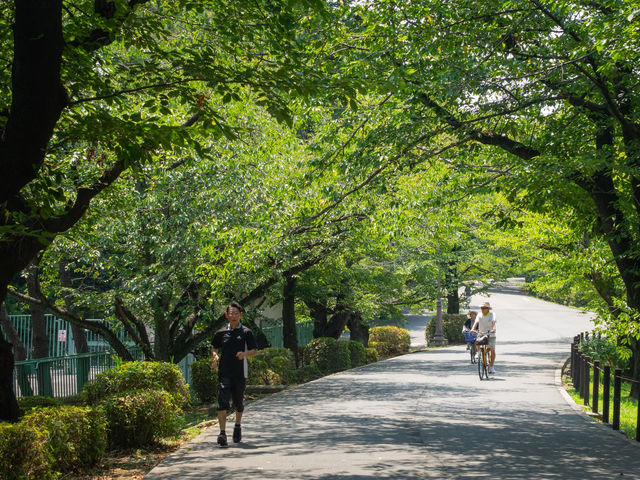
[[[0,478],[51,480],[56,478],[48,435],[39,425],[0,423]]]

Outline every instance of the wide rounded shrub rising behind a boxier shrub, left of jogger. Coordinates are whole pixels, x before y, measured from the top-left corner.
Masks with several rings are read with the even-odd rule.
[[[189,389],[177,365],[165,362],[127,362],[99,374],[83,394],[89,405],[133,390],[164,390],[176,405],[189,403]]]

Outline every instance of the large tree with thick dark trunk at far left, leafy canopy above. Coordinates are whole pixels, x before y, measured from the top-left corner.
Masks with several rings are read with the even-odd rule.
[[[304,93],[315,80],[300,49],[318,18],[310,6],[323,8],[187,0],[21,0],[2,8],[0,301],[14,275],[122,172],[163,149],[206,156],[192,132],[233,136],[211,93],[232,101],[250,85],[286,121],[281,93]],[[18,414],[12,363],[0,339],[0,412],[8,420]]]

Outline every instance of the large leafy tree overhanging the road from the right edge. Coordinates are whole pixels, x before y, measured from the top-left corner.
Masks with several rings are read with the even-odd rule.
[[[339,40],[354,81],[375,82],[375,72],[375,88],[403,105],[398,122],[422,138],[415,157],[449,144],[440,156],[458,171],[492,180],[516,206],[564,208],[606,241],[629,333],[640,319],[636,10],[633,1],[353,3]]]

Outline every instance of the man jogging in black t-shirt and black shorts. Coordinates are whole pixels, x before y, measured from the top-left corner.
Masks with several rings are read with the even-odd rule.
[[[230,408],[229,400],[233,400],[236,409],[236,424],[233,427],[233,442],[242,440],[242,412],[244,411],[243,397],[248,377],[248,357],[255,356],[257,345],[251,330],[240,323],[244,309],[237,302],[227,306],[224,315],[229,324],[218,330],[213,336],[211,346],[212,366],[218,367],[218,423],[220,434],[218,445],[226,447],[227,410]],[[218,356],[220,354],[220,356]]]

